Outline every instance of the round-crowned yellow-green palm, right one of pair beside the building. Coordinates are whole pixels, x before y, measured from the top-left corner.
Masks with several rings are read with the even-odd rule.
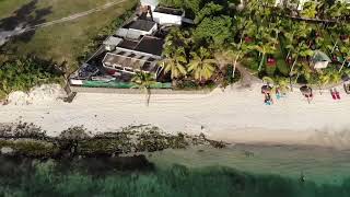
[[[192,59],[188,63],[188,71],[192,72],[196,80],[208,80],[215,71],[217,61],[210,58],[211,54],[203,47],[197,53],[190,53]]]

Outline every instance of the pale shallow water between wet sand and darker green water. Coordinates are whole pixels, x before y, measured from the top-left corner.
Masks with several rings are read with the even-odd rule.
[[[159,167],[174,163],[188,167],[226,166],[254,174],[291,178],[301,175],[317,184],[339,185],[350,177],[350,150],[322,147],[234,144],[224,149],[192,147],[149,153]]]

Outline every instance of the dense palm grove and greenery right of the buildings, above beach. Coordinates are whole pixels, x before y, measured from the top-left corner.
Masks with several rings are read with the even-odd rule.
[[[349,3],[310,1],[301,12],[293,2],[275,7],[268,0],[248,1],[243,9],[230,1],[161,3],[195,13],[195,25],[174,27],[166,38],[161,66],[177,84],[217,83],[228,76],[228,65],[233,77],[243,65],[259,78],[315,85],[339,83],[350,73]],[[314,68],[318,51],[330,57],[326,69]]]

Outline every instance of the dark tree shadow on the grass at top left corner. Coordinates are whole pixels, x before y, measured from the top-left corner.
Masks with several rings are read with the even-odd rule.
[[[0,33],[11,31],[15,32],[16,30],[23,30],[46,22],[44,18],[52,12],[51,7],[37,9],[37,3],[38,0],[32,0],[15,10],[11,16],[0,19]],[[20,35],[14,33],[12,39],[28,43],[33,38],[35,30],[24,32]],[[11,33],[8,33],[8,36],[11,37]]]

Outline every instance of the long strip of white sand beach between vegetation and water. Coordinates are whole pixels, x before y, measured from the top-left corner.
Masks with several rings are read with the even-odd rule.
[[[152,124],[168,132],[206,134],[236,142],[272,142],[350,148],[350,95],[341,100],[328,91],[311,104],[298,89],[275,105],[264,104],[260,84],[250,90],[228,88],[208,95],[144,95],[79,93],[71,103],[45,101],[31,105],[0,106],[0,123],[28,121],[49,135],[84,125],[93,132],[113,131],[130,124]],[[203,126],[203,129],[201,129]]]

